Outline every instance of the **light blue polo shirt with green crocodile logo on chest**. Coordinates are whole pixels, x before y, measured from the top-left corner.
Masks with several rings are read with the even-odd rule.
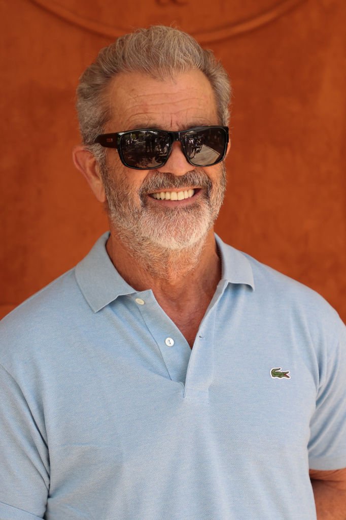
[[[0,520],[313,520],[346,466],[345,328],[225,245],[189,347],[105,233],[2,322]]]

